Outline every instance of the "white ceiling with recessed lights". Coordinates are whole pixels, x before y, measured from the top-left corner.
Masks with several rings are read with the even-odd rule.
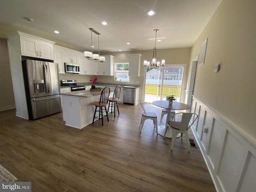
[[[100,52],[191,47],[221,0],[0,0],[0,37],[20,31],[76,50],[90,50],[91,31],[101,33]],[[148,10],[156,15],[148,16]],[[28,22],[24,18],[32,18]],[[106,21],[103,26],[100,22]],[[54,34],[58,30],[60,34]],[[126,42],[130,42],[127,45]],[[98,50],[98,36],[92,33]]]

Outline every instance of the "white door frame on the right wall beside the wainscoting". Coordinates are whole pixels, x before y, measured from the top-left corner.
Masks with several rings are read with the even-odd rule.
[[[198,56],[196,56],[192,60],[192,69],[191,69],[191,75],[190,75],[190,83],[188,87],[188,99],[187,99],[187,104],[191,106],[192,103],[192,96],[194,93],[194,85],[196,82],[196,68],[197,68],[197,61],[198,61]]]

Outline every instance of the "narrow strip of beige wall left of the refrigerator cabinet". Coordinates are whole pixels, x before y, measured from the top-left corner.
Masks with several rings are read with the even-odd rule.
[[[15,108],[7,39],[0,38],[0,110]]]

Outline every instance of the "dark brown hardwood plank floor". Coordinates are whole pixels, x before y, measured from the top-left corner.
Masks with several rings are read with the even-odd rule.
[[[159,122],[161,110],[146,108]],[[119,110],[104,126],[98,120],[81,130],[65,126],[62,113],[25,120],[15,109],[2,111],[0,164],[31,181],[33,192],[216,191],[199,148],[188,153],[178,138],[171,152],[171,139],[157,136],[152,120],[139,132],[138,105]]]

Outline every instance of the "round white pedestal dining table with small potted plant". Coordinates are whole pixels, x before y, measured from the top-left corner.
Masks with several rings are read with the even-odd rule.
[[[166,117],[166,124],[164,125],[158,125],[158,134],[164,136],[164,131],[167,125],[167,121],[171,120],[171,110],[187,110],[190,109],[190,106],[181,102],[175,102],[173,101],[172,104],[169,104],[169,101],[153,101],[153,105],[166,108],[168,109],[167,117]],[[172,138],[172,132],[170,129],[167,130],[166,136],[167,138]],[[180,134],[178,134],[177,138],[180,137]]]

